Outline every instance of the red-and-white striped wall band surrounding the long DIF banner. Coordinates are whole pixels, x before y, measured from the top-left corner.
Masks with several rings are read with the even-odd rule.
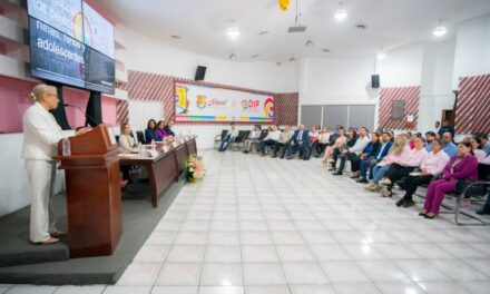
[[[128,82],[121,84],[121,90],[128,91],[129,100],[134,101],[160,101],[164,105],[164,119],[174,119],[175,116],[175,82],[189,82],[207,87],[224,88],[231,90],[248,91],[256,94],[266,94],[274,97],[275,118],[274,122],[278,125],[296,125],[298,94],[274,94],[261,90],[254,90],[243,87],[214,84],[207,81],[194,81],[190,79],[177,78],[171,76],[128,70]],[[128,119],[128,105],[120,101],[117,108],[118,122],[126,122]],[[189,121],[179,122],[186,125],[223,125],[224,122],[210,121]],[[226,122],[225,122],[226,124]],[[249,122],[246,122],[247,125]]]

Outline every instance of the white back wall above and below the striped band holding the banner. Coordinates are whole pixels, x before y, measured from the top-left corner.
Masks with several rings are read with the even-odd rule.
[[[176,49],[164,42],[149,39],[133,30],[120,28],[126,39],[126,68],[160,75],[194,79],[197,66],[206,66],[206,81],[238,86],[272,92],[294,92],[298,90],[298,66],[286,62],[241,62],[216,59]],[[157,106],[155,106],[157,107]],[[145,109],[147,109],[146,107]],[[163,109],[160,104],[158,109]],[[143,129],[149,118],[163,119],[157,112],[143,109],[141,102],[129,102],[129,120],[134,129]],[[223,125],[187,126],[177,125],[175,130],[196,134],[199,149],[213,148],[214,137],[220,134]],[[241,128],[249,128],[243,126]]]

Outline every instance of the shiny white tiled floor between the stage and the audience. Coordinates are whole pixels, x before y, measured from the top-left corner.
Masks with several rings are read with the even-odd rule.
[[[0,285],[0,293],[489,293],[490,228],[333,177],[318,159],[204,151],[187,185],[115,286]]]

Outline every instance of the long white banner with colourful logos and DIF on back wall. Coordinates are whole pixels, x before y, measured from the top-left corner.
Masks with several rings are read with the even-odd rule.
[[[274,121],[271,95],[175,84],[176,121]]]

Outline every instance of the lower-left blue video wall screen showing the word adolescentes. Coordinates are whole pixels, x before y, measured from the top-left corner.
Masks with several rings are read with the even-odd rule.
[[[35,18],[29,18],[31,75],[85,87],[86,46]]]

